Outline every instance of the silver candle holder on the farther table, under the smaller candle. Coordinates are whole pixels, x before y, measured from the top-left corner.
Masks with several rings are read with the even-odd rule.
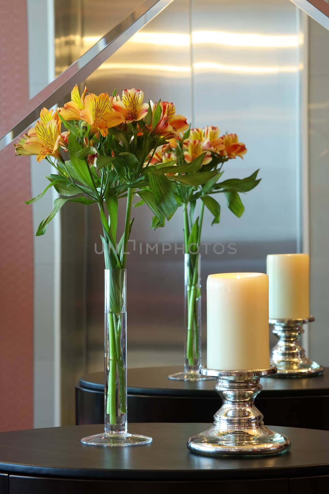
[[[303,325],[314,321],[310,316],[305,319],[270,319],[272,332],[278,337],[278,343],[271,351],[271,364],[278,369],[280,377],[305,377],[322,374],[324,368],[305,356],[304,348],[299,344],[303,334]]]

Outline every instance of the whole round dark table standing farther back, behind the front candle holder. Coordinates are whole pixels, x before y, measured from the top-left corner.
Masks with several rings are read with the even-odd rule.
[[[215,380],[173,381],[180,367],[128,369],[128,417],[132,422],[211,422],[221,406]],[[329,368],[321,376],[265,377],[256,406],[265,423],[329,430]],[[76,384],[76,424],[104,420],[104,374],[83,376]]]

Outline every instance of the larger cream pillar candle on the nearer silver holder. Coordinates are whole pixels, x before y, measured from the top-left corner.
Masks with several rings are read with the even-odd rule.
[[[247,371],[269,365],[268,276],[209,275],[207,368]]]

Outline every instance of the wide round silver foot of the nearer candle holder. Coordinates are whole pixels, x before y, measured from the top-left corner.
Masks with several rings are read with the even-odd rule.
[[[187,442],[190,451],[205,456],[267,456],[286,453],[290,446],[288,437],[265,426],[223,431],[212,426]]]

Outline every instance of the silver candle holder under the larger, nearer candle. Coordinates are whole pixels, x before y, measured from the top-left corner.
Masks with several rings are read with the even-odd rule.
[[[201,374],[216,378],[215,390],[223,405],[215,413],[210,429],[188,440],[188,449],[206,456],[263,456],[287,452],[291,446],[288,437],[268,429],[254,405],[254,399],[262,390],[260,378],[276,372],[275,366],[256,371],[217,371],[202,367]]]

